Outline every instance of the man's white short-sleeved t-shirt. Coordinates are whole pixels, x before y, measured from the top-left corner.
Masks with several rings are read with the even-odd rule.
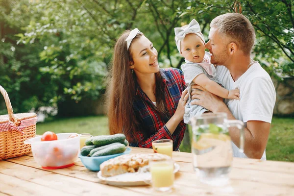
[[[245,123],[247,121],[263,121],[271,123],[273,107],[276,100],[275,88],[267,73],[258,63],[254,64],[234,82],[229,70],[224,66],[217,67],[217,75],[224,88],[228,90],[240,89],[240,100],[225,99],[224,102],[233,116]],[[246,157],[239,148],[232,143],[234,157]],[[266,150],[261,160],[266,160]]]

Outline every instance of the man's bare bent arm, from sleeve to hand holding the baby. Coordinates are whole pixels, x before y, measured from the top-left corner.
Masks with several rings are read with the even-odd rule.
[[[198,85],[194,85],[193,88],[205,90]],[[221,98],[211,94],[207,91],[192,91],[192,104],[198,104],[206,109],[216,112],[225,112],[228,116],[228,120],[236,120],[230,110],[227,108]],[[197,99],[199,100],[197,100]],[[248,121],[247,128],[244,128],[245,132],[245,148],[244,153],[248,158],[260,159],[267,146],[268,137],[270,134],[270,123],[263,121]],[[240,133],[235,127],[229,128],[229,134],[232,141],[239,147]]]

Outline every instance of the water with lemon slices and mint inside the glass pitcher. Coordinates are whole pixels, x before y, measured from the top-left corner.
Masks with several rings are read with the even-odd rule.
[[[193,165],[199,179],[223,185],[233,160],[231,138],[222,124],[204,124],[193,129]]]

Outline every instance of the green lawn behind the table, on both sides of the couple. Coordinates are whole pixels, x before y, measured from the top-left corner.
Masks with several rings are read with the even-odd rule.
[[[94,136],[108,135],[107,123],[105,116],[53,119],[45,123],[37,123],[37,134],[42,135],[45,131],[53,131],[55,133],[91,133]],[[185,144],[182,143],[180,150],[190,152],[191,147]],[[294,162],[294,118],[273,118],[267,146],[267,159]]]

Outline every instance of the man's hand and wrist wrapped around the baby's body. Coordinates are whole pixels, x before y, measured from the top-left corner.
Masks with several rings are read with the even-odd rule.
[[[202,88],[199,85],[193,85],[192,86],[191,96],[192,96],[192,105],[201,105],[202,107],[212,111],[212,112],[220,112],[222,110],[222,107],[226,107],[224,102],[222,101],[222,98],[206,91],[204,88]],[[199,90],[196,90],[199,89]],[[199,100],[197,100],[199,99]]]

